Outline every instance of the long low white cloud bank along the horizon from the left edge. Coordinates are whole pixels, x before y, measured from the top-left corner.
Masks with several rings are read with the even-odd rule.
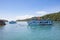
[[[16,21],[18,19],[22,20],[22,19],[26,19],[26,18],[31,18],[33,17],[33,15],[21,15],[21,16],[16,16],[16,17],[0,17],[0,19],[6,19],[8,21]]]

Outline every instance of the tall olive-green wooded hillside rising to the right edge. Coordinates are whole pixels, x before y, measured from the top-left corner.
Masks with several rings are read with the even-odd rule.
[[[53,21],[60,21],[60,12],[48,14],[48,15],[42,16],[42,18],[45,18],[45,19],[49,18]]]

